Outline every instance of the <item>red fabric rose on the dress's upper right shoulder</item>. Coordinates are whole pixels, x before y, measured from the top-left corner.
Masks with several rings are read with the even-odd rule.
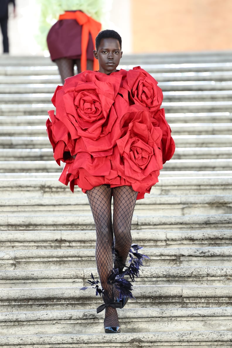
[[[130,103],[142,104],[150,111],[156,111],[163,101],[162,90],[157,84],[158,82],[148,72],[136,66],[127,72],[119,93],[125,99],[128,98]]]

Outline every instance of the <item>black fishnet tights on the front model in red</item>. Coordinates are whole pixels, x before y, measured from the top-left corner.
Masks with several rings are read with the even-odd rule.
[[[113,193],[113,224],[111,200]],[[87,191],[91,211],[96,227],[96,263],[102,288],[103,300],[109,303],[114,300],[115,293],[107,280],[113,268],[112,242],[115,237],[115,248],[119,258],[126,261],[131,247],[131,220],[134,212],[137,192],[129,186],[110,188],[101,185]],[[117,310],[107,307],[104,326],[118,326]]]

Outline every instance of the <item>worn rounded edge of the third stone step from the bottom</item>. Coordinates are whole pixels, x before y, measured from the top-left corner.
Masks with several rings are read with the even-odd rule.
[[[232,298],[232,285],[133,285],[133,296],[139,301],[144,298]],[[75,299],[83,301],[89,299],[101,302],[92,287],[81,290],[72,287],[44,287],[44,288],[2,288],[0,301],[25,301]]]

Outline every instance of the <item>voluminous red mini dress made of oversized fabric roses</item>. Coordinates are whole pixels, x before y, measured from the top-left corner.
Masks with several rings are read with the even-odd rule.
[[[139,66],[67,78],[55,90],[56,114],[49,111],[46,122],[54,158],[65,162],[59,181],[84,193],[128,185],[144,198],[175,151],[162,99],[157,81]]]

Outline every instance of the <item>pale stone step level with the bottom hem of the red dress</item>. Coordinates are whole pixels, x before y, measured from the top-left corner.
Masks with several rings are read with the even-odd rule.
[[[84,195],[78,186],[75,186],[74,194],[69,187],[58,181],[59,173],[43,173],[41,177],[38,174],[25,173],[21,175],[16,173],[16,177],[9,178],[10,173],[1,173],[3,178],[0,178],[1,198],[52,198],[52,197],[67,197],[70,198],[70,203],[75,205],[77,199],[87,203],[87,196]],[[29,175],[31,174],[31,175]],[[51,174],[52,177],[49,177]],[[232,194],[232,172],[162,172],[159,176],[159,182],[155,184],[150,195],[145,195],[145,199],[138,200],[136,204],[146,205],[147,201],[156,201],[161,195],[231,195]],[[77,198],[79,197],[79,198]],[[160,198],[161,199],[161,198]],[[184,197],[181,198],[185,201]],[[181,202],[181,199],[179,202]],[[203,198],[202,198],[203,199]]]

